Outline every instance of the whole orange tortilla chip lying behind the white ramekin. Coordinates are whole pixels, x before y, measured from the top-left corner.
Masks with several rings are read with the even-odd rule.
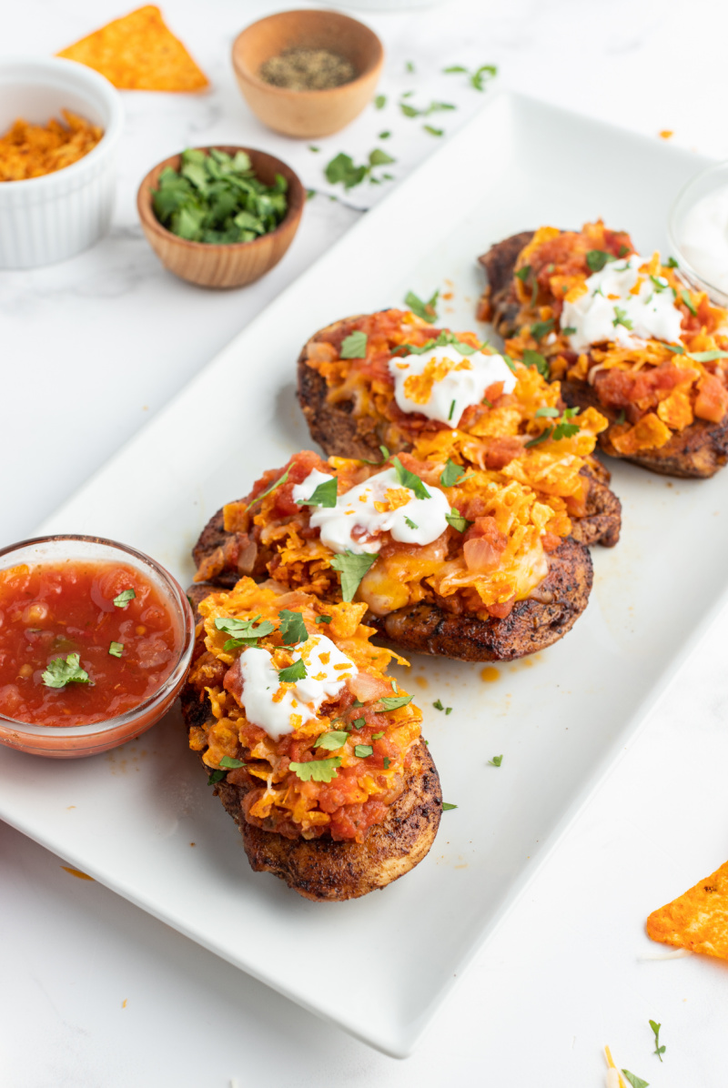
[[[121,90],[199,90],[208,78],[171,33],[159,8],[137,8],[59,57],[96,69]]]

